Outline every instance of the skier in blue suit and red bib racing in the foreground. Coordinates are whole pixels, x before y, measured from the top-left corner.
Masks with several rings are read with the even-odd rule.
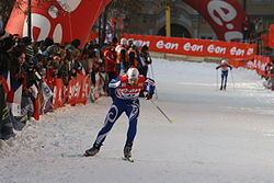
[[[137,121],[139,116],[139,93],[146,90],[145,98],[150,100],[155,93],[155,81],[139,75],[138,69],[130,67],[126,75],[113,79],[110,84],[110,94],[113,103],[105,117],[104,126],[99,131],[98,137],[91,149],[88,149],[84,156],[94,156],[99,152],[106,135],[112,129],[114,123],[125,112],[129,119],[127,139],[124,147],[124,157],[132,158],[132,147],[137,131]]]

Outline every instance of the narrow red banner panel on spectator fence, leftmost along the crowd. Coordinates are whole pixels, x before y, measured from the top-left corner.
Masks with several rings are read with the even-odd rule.
[[[61,79],[56,79],[54,87],[53,107],[58,108],[66,103],[66,89]]]

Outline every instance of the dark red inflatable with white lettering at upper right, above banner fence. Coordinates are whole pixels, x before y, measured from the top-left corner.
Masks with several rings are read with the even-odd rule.
[[[242,39],[246,12],[238,0],[184,0],[213,26],[218,39]]]

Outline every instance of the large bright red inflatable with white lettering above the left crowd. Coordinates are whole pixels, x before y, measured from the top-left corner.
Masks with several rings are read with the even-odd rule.
[[[5,26],[5,31],[20,36],[27,36],[27,0],[16,0]],[[32,0],[32,37],[42,41],[52,37],[56,43],[80,39],[82,45],[90,28],[111,0]],[[81,28],[79,28],[81,27]]]

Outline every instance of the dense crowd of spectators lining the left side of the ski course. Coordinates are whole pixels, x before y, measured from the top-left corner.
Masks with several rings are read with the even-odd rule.
[[[32,42],[30,37],[0,33],[0,139],[14,136],[14,129],[21,130],[34,115],[37,91],[42,82],[53,91],[56,79],[65,85],[71,78],[88,75],[91,87],[98,83],[100,73],[103,93],[107,95],[107,83],[111,79],[126,72],[134,65],[142,75],[151,64],[148,47],[140,47],[139,42],[121,44],[114,37],[112,43],[100,46],[96,41],[87,43],[80,48],[80,41],[60,45],[52,38]],[[10,85],[10,87],[9,87]],[[16,90],[22,85],[21,114],[14,115],[13,107]]]

